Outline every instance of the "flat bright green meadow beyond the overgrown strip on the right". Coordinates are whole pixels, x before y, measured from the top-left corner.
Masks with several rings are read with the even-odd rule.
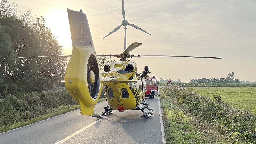
[[[256,114],[256,87],[186,87],[186,89],[209,98],[220,95],[223,102],[240,110],[249,108],[253,114]]]

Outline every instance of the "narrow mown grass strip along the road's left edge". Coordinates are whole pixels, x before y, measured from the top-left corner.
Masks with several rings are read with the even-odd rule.
[[[98,103],[103,102],[105,100],[106,100],[105,98],[101,98],[101,99],[99,99]],[[0,133],[6,132],[6,131],[11,130],[11,129],[23,127],[23,126],[26,126],[28,124],[32,124],[32,123],[35,123],[35,122],[38,122],[38,121],[42,121],[42,120],[45,120],[47,118],[51,118],[51,117],[54,117],[54,116],[57,116],[57,115],[61,115],[61,114],[64,114],[64,113],[67,113],[67,112],[70,112],[70,111],[73,111],[73,110],[76,110],[76,109],[79,109],[79,108],[80,108],[79,104],[77,104],[77,105],[63,105],[63,106],[60,106],[58,108],[49,110],[49,112],[47,112],[46,114],[35,117],[33,119],[30,119],[30,120],[27,120],[27,121],[24,121],[24,122],[18,122],[18,123],[7,125],[7,126],[2,126],[2,127],[0,127]]]

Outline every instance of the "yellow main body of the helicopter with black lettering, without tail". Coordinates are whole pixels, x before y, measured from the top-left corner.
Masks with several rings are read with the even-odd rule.
[[[106,97],[110,108],[123,112],[136,109],[145,97],[145,79],[136,72],[136,63],[133,61],[113,61],[107,64],[108,69],[102,73],[104,81],[137,81],[126,83],[103,83],[106,86]]]

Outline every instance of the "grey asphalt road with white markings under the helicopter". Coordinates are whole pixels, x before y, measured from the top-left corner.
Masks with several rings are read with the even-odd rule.
[[[145,98],[152,117],[141,117],[139,110],[114,111],[103,119],[83,116],[80,109],[49,118],[25,127],[0,133],[0,143],[85,143],[162,144],[159,99]],[[107,103],[96,104],[95,113],[101,114]]]

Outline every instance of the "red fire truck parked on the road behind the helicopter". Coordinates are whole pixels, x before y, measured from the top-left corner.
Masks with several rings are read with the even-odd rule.
[[[153,77],[149,77],[148,74],[151,73],[149,72],[149,67],[148,66],[145,66],[144,67],[144,70],[145,70],[145,74],[146,74],[146,77],[145,77],[145,81],[146,81],[146,97],[149,97],[149,98],[154,98],[154,96],[157,96],[158,95],[158,79],[155,78],[155,76]]]

